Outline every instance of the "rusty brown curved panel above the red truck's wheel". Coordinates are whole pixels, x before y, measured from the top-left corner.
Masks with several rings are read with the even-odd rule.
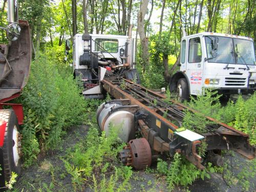
[[[5,46],[5,65],[0,65],[0,100],[19,94],[27,83],[32,56],[29,24],[19,20],[22,29],[16,41]],[[2,46],[1,46],[2,47]],[[2,59],[3,61],[3,59]],[[5,70],[7,69],[8,70]]]

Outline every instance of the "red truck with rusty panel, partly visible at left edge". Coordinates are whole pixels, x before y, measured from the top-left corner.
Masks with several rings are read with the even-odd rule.
[[[18,19],[16,5],[17,1],[8,0],[8,26],[0,26],[9,40],[0,45],[0,187],[5,187],[13,172],[20,173],[23,106],[10,101],[25,87],[31,63],[29,24]]]

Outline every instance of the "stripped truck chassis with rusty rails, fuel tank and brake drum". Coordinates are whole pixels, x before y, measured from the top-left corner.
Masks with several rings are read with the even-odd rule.
[[[121,88],[120,85],[123,81],[125,81],[125,86]],[[207,132],[198,134],[182,129],[180,126],[184,117],[183,112],[185,110],[192,113],[199,112],[175,100],[166,102],[164,95],[145,89],[139,84],[124,78],[118,79],[112,76],[101,82],[103,88],[116,99],[99,106],[97,120],[101,122],[99,124],[101,131],[105,131],[108,135],[110,131],[109,125],[106,124],[106,122],[110,122],[108,119],[112,119],[112,123],[118,126],[118,119],[115,118],[114,114],[120,113],[120,111],[130,111],[134,114],[132,120],[135,126],[135,129],[131,129],[131,131],[139,131],[148,142],[148,145],[146,145],[145,140],[139,139],[140,141],[137,142],[137,139],[129,138],[131,139],[130,142],[120,153],[120,159],[126,165],[145,168],[150,166],[154,155],[167,152],[170,156],[173,156],[178,152],[198,168],[203,169],[202,157],[198,154],[203,139],[207,143],[208,159],[216,165],[220,166],[223,163],[222,157],[217,153],[220,150],[232,150],[247,159],[255,157],[255,147],[249,144],[249,136],[225,123],[202,115],[202,118],[211,121],[210,125],[205,127]],[[118,104],[115,105],[115,103]],[[106,105],[110,105],[111,110],[101,117],[100,115],[104,112]],[[103,119],[103,121],[100,119]],[[119,128],[121,131],[125,127],[129,129],[124,116],[123,119],[124,122]],[[176,124],[172,121],[175,121]],[[103,127],[104,129],[102,129]],[[122,133],[119,134],[119,137],[126,142],[129,141],[125,140],[127,137],[124,137]],[[136,142],[133,144],[131,141],[136,141],[138,144]],[[144,149],[140,148],[142,145],[145,146]],[[152,151],[152,154],[148,153],[149,150]]]

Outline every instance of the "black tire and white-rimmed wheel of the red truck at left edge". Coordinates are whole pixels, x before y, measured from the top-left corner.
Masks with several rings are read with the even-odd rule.
[[[0,150],[1,180],[0,185],[5,186],[12,176],[12,172],[20,174],[21,145],[19,126],[13,110],[0,110],[0,119],[7,122],[4,146]]]

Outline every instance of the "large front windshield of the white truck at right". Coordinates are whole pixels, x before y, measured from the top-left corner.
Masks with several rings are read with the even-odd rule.
[[[253,42],[250,40],[205,36],[205,42],[209,62],[255,64]],[[218,45],[215,45],[216,43]]]

